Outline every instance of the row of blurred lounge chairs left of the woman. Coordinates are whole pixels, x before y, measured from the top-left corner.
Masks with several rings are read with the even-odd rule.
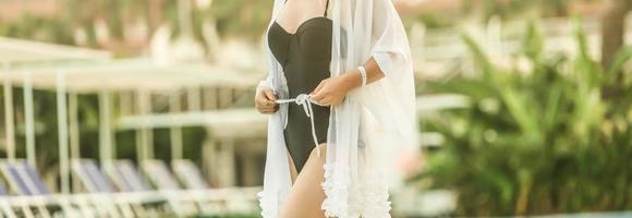
[[[2,217],[186,217],[256,208],[259,187],[211,189],[191,160],[71,161],[73,194],[52,193],[25,161],[0,161]],[[0,183],[2,184],[2,183]]]

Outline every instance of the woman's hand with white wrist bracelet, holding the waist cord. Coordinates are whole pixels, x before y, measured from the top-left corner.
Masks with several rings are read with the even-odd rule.
[[[362,77],[357,71],[344,73],[337,77],[326,78],[309,95],[319,105],[337,106],[349,92],[357,87]]]

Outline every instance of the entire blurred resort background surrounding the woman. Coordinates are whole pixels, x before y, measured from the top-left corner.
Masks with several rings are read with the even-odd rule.
[[[393,217],[632,216],[632,1],[393,2],[421,126]],[[3,216],[259,217],[271,4],[0,0]]]

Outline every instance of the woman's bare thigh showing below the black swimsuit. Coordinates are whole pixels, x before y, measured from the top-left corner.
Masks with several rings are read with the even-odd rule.
[[[281,208],[280,218],[325,217],[325,211],[320,209],[325,199],[325,192],[323,192],[320,183],[325,174],[323,165],[325,165],[327,147],[321,144],[318,145],[318,149],[320,149],[320,157],[318,157],[316,149],[312,150]]]

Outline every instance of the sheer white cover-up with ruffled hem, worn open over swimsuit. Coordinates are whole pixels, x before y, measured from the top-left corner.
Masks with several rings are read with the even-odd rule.
[[[284,1],[275,0],[270,25]],[[323,209],[327,217],[390,217],[388,189],[401,182],[394,158],[414,149],[417,133],[405,31],[390,0],[330,0],[329,9],[333,23],[331,76],[355,70],[372,57],[386,76],[352,90],[341,105],[331,108]],[[267,41],[270,70],[260,85],[288,99],[287,81]],[[283,140],[287,111],[288,105],[280,105],[268,121],[264,190],[258,194],[264,218],[278,218],[291,190]]]

